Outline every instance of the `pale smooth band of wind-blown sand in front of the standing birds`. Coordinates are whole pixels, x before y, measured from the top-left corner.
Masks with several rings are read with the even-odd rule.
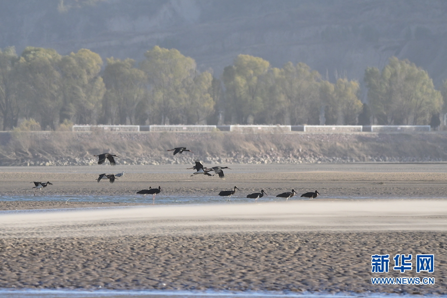
[[[298,201],[14,213],[2,237],[199,234],[236,231],[446,230],[441,200]]]

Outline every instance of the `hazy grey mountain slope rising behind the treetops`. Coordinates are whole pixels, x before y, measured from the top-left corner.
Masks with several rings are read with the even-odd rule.
[[[249,54],[361,83],[367,67],[396,56],[439,86],[447,78],[446,15],[443,0],[0,0],[0,48],[87,48],[140,61],[159,45],[216,76]]]

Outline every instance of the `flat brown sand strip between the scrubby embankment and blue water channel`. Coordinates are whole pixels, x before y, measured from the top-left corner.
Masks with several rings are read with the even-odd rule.
[[[191,165],[192,166],[192,165]],[[225,179],[196,175],[185,165],[0,167],[0,195],[32,195],[32,181],[50,181],[47,195],[135,195],[161,186],[160,195],[217,196],[237,186],[246,196],[264,189],[270,196],[295,189],[298,194],[318,190],[320,199],[447,198],[447,164],[231,164]],[[125,175],[108,183],[96,182],[101,173]],[[237,196],[236,195],[236,196]],[[65,203],[65,202],[64,202]]]

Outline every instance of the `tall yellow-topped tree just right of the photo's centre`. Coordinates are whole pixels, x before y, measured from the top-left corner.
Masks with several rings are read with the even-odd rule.
[[[269,67],[269,62],[262,58],[238,55],[233,66],[224,69],[226,106],[236,122],[247,123],[264,110],[262,79]]]

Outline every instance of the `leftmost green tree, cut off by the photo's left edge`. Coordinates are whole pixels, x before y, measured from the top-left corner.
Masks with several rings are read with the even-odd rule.
[[[19,105],[17,102],[17,80],[14,64],[18,57],[13,47],[0,49],[0,113],[2,129],[11,130],[17,126]]]

